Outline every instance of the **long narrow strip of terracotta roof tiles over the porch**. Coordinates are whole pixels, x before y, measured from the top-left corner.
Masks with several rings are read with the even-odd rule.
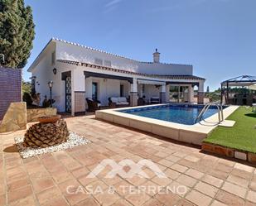
[[[204,78],[194,76],[194,75],[159,75],[159,74],[145,74],[145,73],[138,73],[138,72],[133,72],[133,71],[128,71],[128,70],[123,70],[123,69],[114,69],[112,67],[107,67],[107,66],[101,66],[101,65],[92,65],[89,63],[82,63],[78,61],[72,61],[72,60],[57,60],[62,63],[70,64],[70,65],[82,65],[86,67],[91,67],[94,69],[102,69],[102,70],[109,70],[109,71],[114,71],[117,73],[123,73],[123,74],[133,74],[133,75],[138,75],[138,76],[144,76],[144,77],[152,77],[152,78],[158,78],[158,79],[193,79],[193,80],[205,80]]]

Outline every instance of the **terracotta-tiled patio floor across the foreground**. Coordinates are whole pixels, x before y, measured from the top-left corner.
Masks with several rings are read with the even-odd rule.
[[[22,160],[13,146],[13,137],[25,131],[0,135],[0,205],[256,205],[253,166],[101,122],[94,116],[72,117],[66,121],[71,131],[93,143]],[[88,178],[89,172],[105,159],[117,163],[124,159],[136,163],[152,160],[167,178],[157,177],[147,167],[143,167],[147,178],[138,175],[106,178],[111,170],[109,166],[96,178]],[[123,169],[131,170],[128,166]],[[142,186],[161,190],[143,192]],[[185,189],[182,194],[166,192],[181,186]],[[96,192],[99,188],[103,192]],[[127,190],[131,188],[132,193]]]

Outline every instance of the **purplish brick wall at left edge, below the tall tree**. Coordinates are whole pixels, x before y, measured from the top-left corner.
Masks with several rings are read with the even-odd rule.
[[[22,101],[22,69],[0,67],[0,120],[10,103]]]

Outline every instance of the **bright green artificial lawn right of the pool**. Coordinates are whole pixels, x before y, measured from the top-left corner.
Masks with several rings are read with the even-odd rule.
[[[252,108],[239,107],[227,119],[234,127],[217,127],[204,142],[256,153],[256,113]]]

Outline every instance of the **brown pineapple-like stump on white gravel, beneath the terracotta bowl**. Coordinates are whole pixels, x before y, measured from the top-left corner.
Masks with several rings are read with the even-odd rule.
[[[70,133],[62,119],[55,123],[36,123],[26,132],[24,146],[46,148],[67,141]]]

